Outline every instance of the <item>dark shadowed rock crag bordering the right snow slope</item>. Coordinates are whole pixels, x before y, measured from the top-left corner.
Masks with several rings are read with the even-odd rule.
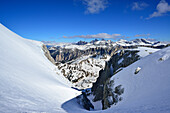
[[[110,77],[116,74],[121,68],[127,67],[137,61],[139,59],[139,55],[136,54],[137,52],[138,51],[121,50],[120,52],[114,53],[106,63],[105,69],[99,72],[99,77],[92,87],[92,94],[94,96],[94,102],[102,100],[102,109],[107,109],[112,104],[116,104],[122,100],[120,95],[124,92],[124,88],[119,85],[116,86],[113,91],[114,86],[112,85],[114,85],[114,81],[110,81]],[[111,66],[113,69],[110,68]],[[113,73],[113,75],[111,73]]]

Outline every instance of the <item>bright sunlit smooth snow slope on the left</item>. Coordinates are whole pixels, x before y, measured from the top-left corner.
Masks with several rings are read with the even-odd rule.
[[[61,105],[79,94],[56,74],[41,46],[0,24],[0,113],[66,112]]]

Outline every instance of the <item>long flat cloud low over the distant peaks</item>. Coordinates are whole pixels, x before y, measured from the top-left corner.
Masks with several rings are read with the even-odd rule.
[[[107,33],[99,33],[94,35],[75,35],[75,36],[63,36],[63,38],[105,38],[105,39],[117,39],[117,38],[125,38],[121,34],[107,34]]]

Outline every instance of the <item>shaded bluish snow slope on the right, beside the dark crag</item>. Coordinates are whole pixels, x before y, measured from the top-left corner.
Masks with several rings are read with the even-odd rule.
[[[140,67],[139,73],[134,74]],[[170,112],[170,47],[142,58],[112,77],[123,100],[108,112]]]

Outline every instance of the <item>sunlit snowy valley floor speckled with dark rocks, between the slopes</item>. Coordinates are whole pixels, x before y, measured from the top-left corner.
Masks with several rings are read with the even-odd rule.
[[[105,67],[105,62],[110,58],[105,56],[83,56],[71,63],[60,63],[58,69],[79,89],[91,88],[99,77],[99,71]]]

